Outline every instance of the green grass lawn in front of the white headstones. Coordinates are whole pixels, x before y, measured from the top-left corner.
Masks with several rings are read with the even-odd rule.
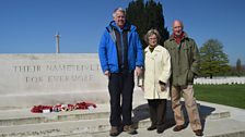
[[[197,100],[245,109],[245,85],[195,85]]]

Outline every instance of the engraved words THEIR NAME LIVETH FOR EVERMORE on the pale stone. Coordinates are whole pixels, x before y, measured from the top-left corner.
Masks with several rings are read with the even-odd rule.
[[[14,65],[14,73],[26,74],[26,84],[92,82],[100,64]],[[40,75],[40,73],[43,75]]]

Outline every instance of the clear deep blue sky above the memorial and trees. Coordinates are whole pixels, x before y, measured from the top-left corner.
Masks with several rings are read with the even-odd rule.
[[[131,0],[0,0],[0,53],[94,53],[117,7]],[[158,0],[165,26],[179,18],[199,47],[214,38],[245,64],[245,0]]]

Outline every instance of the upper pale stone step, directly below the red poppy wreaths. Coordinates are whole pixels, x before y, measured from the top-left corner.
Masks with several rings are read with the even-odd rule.
[[[202,119],[224,119],[230,117],[229,111],[219,111],[210,107],[199,104],[199,111]],[[173,112],[167,103],[167,119],[173,119]],[[186,113],[186,111],[184,111]],[[185,114],[187,115],[187,114]],[[135,119],[148,119],[149,110],[147,103],[135,103],[132,116]],[[97,104],[97,108],[92,110],[75,110],[67,112],[51,112],[51,113],[32,113],[30,109],[22,110],[5,110],[0,111],[0,126],[38,124],[38,123],[54,123],[80,120],[95,120],[108,119],[109,104]]]

